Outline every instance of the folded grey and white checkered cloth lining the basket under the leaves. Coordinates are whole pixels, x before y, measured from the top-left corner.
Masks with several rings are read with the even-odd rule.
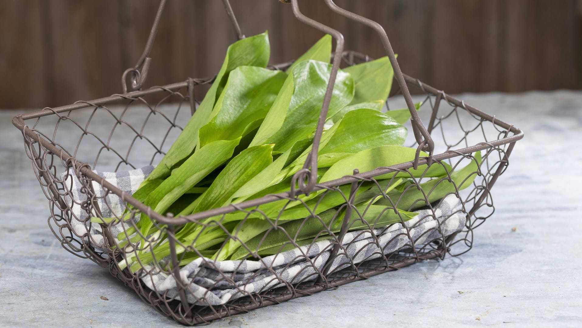
[[[152,167],[144,167],[127,172],[97,172],[119,189],[132,194],[137,190],[141,181],[152,171]],[[76,177],[71,175],[72,186],[80,186]],[[102,193],[102,189],[94,182],[95,192]],[[73,204],[82,203],[86,195],[79,189],[73,192],[73,197],[79,199]],[[105,200],[112,204],[107,206]],[[125,204],[120,202],[118,196],[113,194],[100,198],[98,201],[102,216],[112,217],[123,213]],[[74,208],[73,213],[77,218],[88,217],[87,213],[81,213]],[[456,195],[446,196],[439,202],[435,209],[435,216],[431,210],[419,210],[417,216],[404,224],[393,224],[390,227],[370,230],[349,231],[342,241],[342,248],[338,256],[333,260],[329,272],[345,269],[353,264],[381,258],[382,254],[389,254],[403,248],[410,248],[411,241],[414,245],[423,246],[427,242],[446,237],[462,230],[465,225],[466,213],[462,210],[462,204]],[[435,220],[436,219],[436,220]],[[80,234],[86,225],[82,222],[74,223],[73,230]],[[77,231],[78,230],[78,231]],[[113,236],[122,231],[112,231]],[[95,247],[103,245],[100,227],[91,227],[85,230]],[[83,234],[80,234],[83,235]],[[409,235],[411,238],[409,238]],[[181,284],[187,288],[187,301],[197,305],[221,305],[226,302],[266,291],[285,284],[295,284],[305,281],[313,281],[319,277],[319,272],[324,270],[327,260],[331,256],[333,238],[323,239],[311,245],[301,246],[277,255],[267,256],[261,260],[227,260],[213,261],[208,258],[198,258],[180,269]],[[161,264],[168,259],[161,260]],[[176,280],[172,275],[155,270],[152,266],[145,266],[144,271],[157,272],[156,274],[144,274],[141,280],[148,288],[164,294],[169,298],[180,299]]]

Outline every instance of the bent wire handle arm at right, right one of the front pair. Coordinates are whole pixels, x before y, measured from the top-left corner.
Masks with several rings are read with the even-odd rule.
[[[384,50],[390,59],[390,63],[392,64],[392,68],[394,70],[394,76],[396,78],[396,82],[400,86],[400,90],[402,90],[402,95],[404,96],[404,101],[406,101],[406,106],[410,111],[410,122],[412,124],[412,129],[414,132],[414,137],[416,138],[416,142],[418,143],[418,149],[416,151],[416,158],[414,159],[414,168],[418,167],[418,157],[420,155],[420,150],[428,150],[429,158],[432,157],[432,152],[434,151],[434,141],[432,141],[432,137],[430,132],[427,131],[423,122],[418,117],[418,112],[416,111],[416,107],[414,107],[414,103],[412,101],[412,97],[410,96],[410,91],[408,90],[408,86],[404,81],[404,76],[402,75],[402,70],[400,70],[400,66],[398,65],[398,61],[396,60],[396,56],[394,51],[392,50],[392,45],[390,44],[390,40],[388,40],[388,34],[378,22],[374,20],[368,19],[366,17],[356,15],[356,13],[350,12],[343,8],[340,8],[332,0],[324,0],[327,6],[339,15],[345,16],[350,20],[354,20],[358,23],[365,24],[370,26],[374,29],[380,39],[382,40],[382,45],[384,45]],[[430,163],[430,161],[429,161]]]

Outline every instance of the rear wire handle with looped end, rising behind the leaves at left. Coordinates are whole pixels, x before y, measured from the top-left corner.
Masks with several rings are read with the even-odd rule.
[[[232,23],[233,29],[235,29],[237,38],[239,40],[244,38],[244,34],[240,31],[239,23],[236,20],[235,13],[232,11],[229,0],[222,0],[222,4],[224,5],[230,23]],[[158,12],[155,14],[154,23],[151,26],[150,36],[147,38],[147,43],[145,43],[145,48],[141,53],[140,59],[137,60],[136,65],[126,69],[121,76],[123,93],[127,93],[127,75],[130,75],[130,87],[133,91],[140,90],[147,78],[151,63],[150,52],[154,45],[155,36],[158,33],[159,20],[162,17],[162,13],[164,13],[165,6],[166,0],[161,0],[158,6]]]

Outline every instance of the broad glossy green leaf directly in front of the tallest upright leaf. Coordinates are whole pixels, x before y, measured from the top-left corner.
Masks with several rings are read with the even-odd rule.
[[[286,77],[281,71],[256,66],[239,66],[230,72],[214,107],[216,114],[200,128],[200,147],[215,140],[236,139],[257,128]]]

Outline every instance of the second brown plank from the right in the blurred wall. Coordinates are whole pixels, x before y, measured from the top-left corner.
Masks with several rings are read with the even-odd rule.
[[[501,2],[441,0],[434,6],[429,83],[448,93],[496,89]]]

